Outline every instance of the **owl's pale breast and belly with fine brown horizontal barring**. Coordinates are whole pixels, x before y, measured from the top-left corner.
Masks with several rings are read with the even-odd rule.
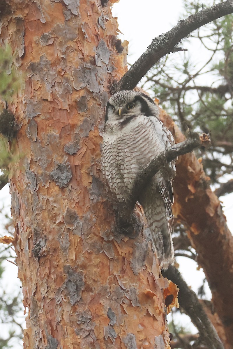
[[[151,121],[143,116],[103,134],[102,172],[118,200],[127,200],[139,171],[163,150]]]

